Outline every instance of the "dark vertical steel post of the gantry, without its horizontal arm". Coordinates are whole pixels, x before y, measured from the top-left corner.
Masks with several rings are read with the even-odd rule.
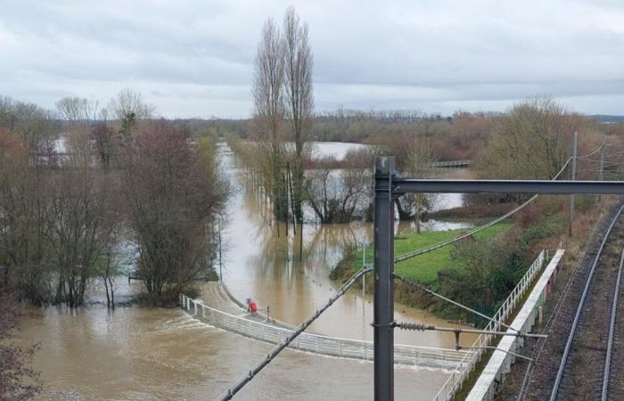
[[[374,165],[374,400],[394,401],[394,156]]]

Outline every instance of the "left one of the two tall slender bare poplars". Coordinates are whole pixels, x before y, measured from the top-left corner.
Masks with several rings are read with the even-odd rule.
[[[283,41],[274,20],[269,18],[262,28],[258,44],[251,92],[259,151],[267,164],[263,169],[265,186],[273,201],[277,220],[285,219],[288,213],[282,178],[286,161],[283,144],[283,64]]]

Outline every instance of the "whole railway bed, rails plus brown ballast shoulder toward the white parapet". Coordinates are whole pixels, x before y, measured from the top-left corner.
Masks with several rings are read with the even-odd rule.
[[[517,399],[622,399],[624,366],[620,280],[624,261],[624,204],[587,246],[546,323],[549,339],[534,350]],[[564,348],[563,348],[564,346]],[[561,356],[561,358],[559,357]]]

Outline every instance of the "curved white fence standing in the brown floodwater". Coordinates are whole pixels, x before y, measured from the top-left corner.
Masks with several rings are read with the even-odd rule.
[[[220,329],[232,331],[255,340],[277,344],[291,334],[291,330],[230,315],[226,312],[204,305],[201,300],[190,299],[180,294],[180,306],[190,315],[204,323]],[[340,356],[355,359],[373,360],[373,342],[327,337],[319,334],[302,332],[291,342],[291,348],[328,356]],[[455,349],[416,347],[402,344],[394,346],[396,364],[407,364],[430,368],[456,369],[464,364],[467,351]]]

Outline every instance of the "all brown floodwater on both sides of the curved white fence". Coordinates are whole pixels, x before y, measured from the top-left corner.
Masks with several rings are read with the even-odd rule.
[[[224,156],[228,171],[239,180],[232,155],[224,150]],[[458,201],[461,198],[448,198],[450,204]],[[223,235],[226,285],[238,299],[253,298],[261,308],[270,306],[272,317],[285,323],[300,323],[333,295],[337,285],[328,274],[344,247],[370,243],[372,238],[369,224],[305,225],[300,261],[297,239],[292,233],[286,239],[283,225],[276,238],[276,227],[268,224],[267,204],[254,191],[242,187],[229,212]],[[398,225],[398,232],[411,229]],[[119,278],[116,298],[131,297],[140,291],[139,285]],[[45,390],[37,399],[213,399],[271,348],[200,323],[177,308],[118,307],[113,312],[102,303],[101,286],[95,286],[90,294],[94,304],[77,310],[28,307],[37,316],[26,319],[19,334],[25,345],[41,343],[34,367],[42,372]],[[453,325],[415,308],[395,308],[397,320]],[[362,299],[360,290],[352,290],[309,330],[370,340],[372,320],[370,299]],[[397,331],[396,342],[454,346],[452,334],[431,331]],[[439,370],[396,368],[396,397],[431,399],[447,375]],[[235,399],[372,398],[373,364],[287,349]]]

